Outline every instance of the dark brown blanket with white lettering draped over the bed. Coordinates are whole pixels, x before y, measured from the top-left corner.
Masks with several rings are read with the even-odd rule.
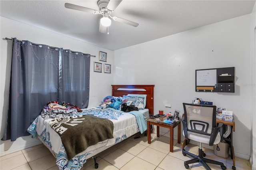
[[[60,135],[68,160],[88,146],[114,138],[112,121],[93,115],[56,118],[50,127]]]

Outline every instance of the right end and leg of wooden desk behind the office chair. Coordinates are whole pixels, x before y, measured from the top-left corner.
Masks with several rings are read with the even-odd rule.
[[[222,132],[222,128],[220,130],[221,133],[221,140],[227,140],[230,141],[230,154],[231,154],[231,159],[233,159],[233,166],[232,169],[235,170],[236,169],[236,162],[235,162],[235,153],[234,153],[234,146],[233,146],[233,131],[235,131],[235,119],[233,116],[233,122],[229,122],[229,121],[222,121],[221,119],[216,119],[217,123],[223,123],[223,125],[230,125],[231,127],[231,132],[230,132],[230,139],[229,138],[223,138],[223,132]]]

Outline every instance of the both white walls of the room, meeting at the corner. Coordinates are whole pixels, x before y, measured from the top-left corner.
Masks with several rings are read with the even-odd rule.
[[[213,101],[217,107],[226,107],[234,112],[236,120],[236,131],[233,133],[235,155],[245,159],[255,155],[255,146],[250,144],[252,141],[255,142],[255,132],[251,134],[252,123],[255,121],[249,121],[251,118],[255,119],[255,109],[253,109],[255,107],[252,101],[253,99],[255,101],[255,95],[251,95],[253,91],[255,92],[255,87],[250,85],[253,83],[252,77],[254,77],[254,83],[256,77],[255,69],[253,70],[253,66],[256,66],[255,59],[251,57],[251,15],[114,52],[7,18],[1,17],[0,21],[1,137],[7,115],[12,52],[10,40],[6,41],[2,38],[16,37],[18,40],[29,40],[34,43],[96,55],[96,58],[91,58],[89,107],[97,105],[103,97],[111,93],[111,84],[154,84],[155,114],[158,110],[164,110],[167,113],[178,109],[183,112],[183,102],[191,103],[194,97],[200,97],[205,101]],[[93,61],[98,61],[98,51],[108,53],[107,63],[114,66],[112,74],[93,72]],[[236,67],[236,92],[195,92],[195,70],[219,67]],[[166,104],[171,104],[172,108],[165,108]],[[161,132],[164,133],[167,130],[161,128]],[[1,156],[37,143],[38,140],[31,139],[30,136],[18,138],[15,142],[1,141]],[[250,152],[251,147],[254,149],[254,154]]]

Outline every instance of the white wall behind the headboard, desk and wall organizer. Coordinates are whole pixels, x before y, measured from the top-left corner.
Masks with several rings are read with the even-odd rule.
[[[183,113],[194,97],[233,111],[235,155],[250,157],[251,15],[114,51],[114,84],[154,84],[154,114]],[[235,67],[235,93],[195,92],[195,70]],[[165,107],[172,106],[171,109]],[[167,132],[161,128],[161,132]],[[176,132],[176,130],[175,130]],[[183,136],[182,136],[183,137]]]

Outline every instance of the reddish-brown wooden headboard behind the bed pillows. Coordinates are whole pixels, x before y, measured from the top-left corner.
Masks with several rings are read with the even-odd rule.
[[[122,97],[128,94],[147,95],[146,109],[154,115],[154,86],[155,85],[112,85],[112,96]]]

